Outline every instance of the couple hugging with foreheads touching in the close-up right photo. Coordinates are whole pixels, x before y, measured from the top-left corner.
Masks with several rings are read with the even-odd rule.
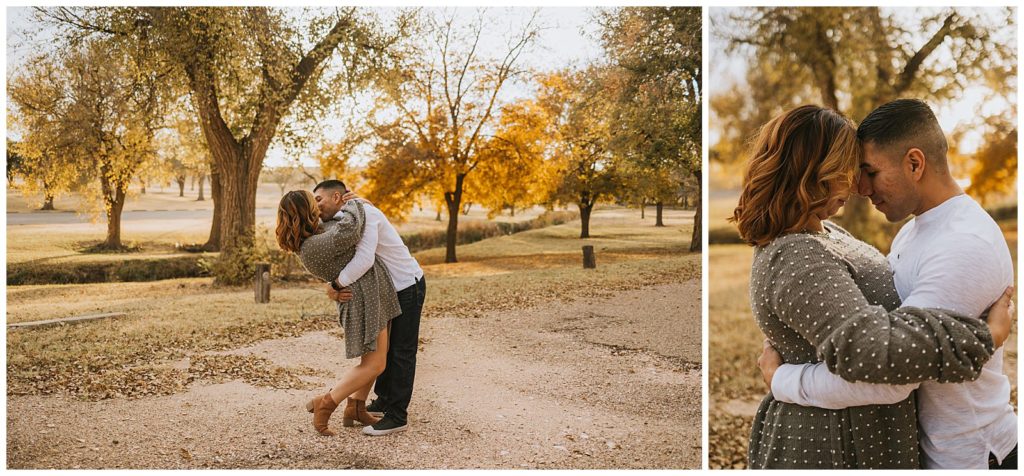
[[[1013,262],[946,154],[915,99],[856,129],[813,105],[761,128],[732,217],[755,247],[751,307],[771,388],[751,468],[1016,469],[1001,348]],[[913,215],[888,259],[827,221],[851,192],[889,221]]]

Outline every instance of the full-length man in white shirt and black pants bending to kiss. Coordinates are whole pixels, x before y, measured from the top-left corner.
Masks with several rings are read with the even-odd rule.
[[[334,217],[346,200],[354,198],[354,194],[350,194],[340,180],[326,180],[313,188],[313,197],[321,216]],[[328,295],[342,302],[351,299],[351,292],[347,288],[374,265],[375,257],[381,260],[391,274],[391,282],[398,293],[401,315],[391,320],[387,365],[374,384],[377,399],[367,405],[368,412],[375,417],[383,414],[383,418],[362,429],[364,434],[381,436],[409,428],[408,409],[413,398],[416,352],[420,341],[420,314],[427,284],[423,277],[423,269],[387,217],[366,201],[364,210],[367,215],[366,227],[359,243],[355,245],[355,256],[331,284],[332,289],[328,291]]]

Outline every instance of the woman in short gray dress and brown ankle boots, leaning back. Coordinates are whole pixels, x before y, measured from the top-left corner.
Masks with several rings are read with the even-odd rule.
[[[322,223],[312,193],[289,191],[278,208],[278,245],[297,253],[311,274],[333,283],[355,255],[355,245],[365,225],[366,214],[358,200],[348,201],[337,216],[325,217]],[[335,434],[328,428],[328,420],[346,397],[348,404],[343,419],[346,427],[354,426],[355,422],[376,423],[377,419],[366,410],[366,399],[387,361],[388,323],[401,314],[391,276],[380,259],[375,258],[373,267],[350,288],[352,299],[338,304],[338,315],[345,330],[345,356],[359,357],[359,363],[330,392],[306,404],[306,409],[313,414],[313,428],[326,436]]]

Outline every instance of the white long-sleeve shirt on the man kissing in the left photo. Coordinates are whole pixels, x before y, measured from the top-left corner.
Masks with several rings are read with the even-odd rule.
[[[415,285],[417,279],[423,277],[423,269],[409,252],[398,231],[377,207],[364,201],[362,209],[367,214],[362,237],[355,245],[355,256],[338,274],[338,284],[347,287],[355,283],[374,265],[376,255],[391,274],[395,291]]]

